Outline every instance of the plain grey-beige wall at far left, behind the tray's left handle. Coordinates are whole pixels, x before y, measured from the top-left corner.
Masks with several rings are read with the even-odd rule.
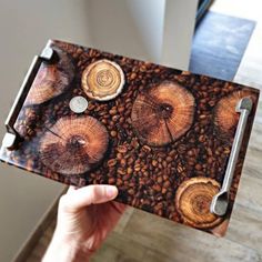
[[[49,38],[89,42],[84,0],[0,0],[0,137],[34,54]],[[0,140],[1,140],[0,138]],[[0,164],[0,261],[9,262],[63,185]]]

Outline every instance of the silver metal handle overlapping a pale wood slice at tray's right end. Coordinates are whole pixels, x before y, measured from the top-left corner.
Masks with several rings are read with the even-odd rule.
[[[248,118],[252,110],[252,104],[253,103],[250,98],[243,98],[239,101],[235,108],[235,111],[240,112],[240,119],[235,131],[234,141],[232,144],[229,163],[225,170],[222,188],[220,192],[213,196],[210,205],[210,211],[216,215],[224,215],[228,210],[230,188],[232,184]]]

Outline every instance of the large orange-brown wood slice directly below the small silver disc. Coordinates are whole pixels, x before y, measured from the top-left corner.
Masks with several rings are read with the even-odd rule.
[[[90,171],[108,149],[108,131],[92,117],[66,117],[46,132],[40,141],[40,160],[62,174]]]

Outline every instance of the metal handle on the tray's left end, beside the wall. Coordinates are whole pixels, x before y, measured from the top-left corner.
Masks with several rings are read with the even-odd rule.
[[[42,63],[42,61],[50,61],[53,58],[54,51],[50,48],[47,47],[43,49],[42,53],[40,56],[36,56],[28,72],[27,75],[22,82],[22,85],[18,92],[18,95],[12,104],[12,108],[8,114],[8,118],[4,122],[6,128],[7,128],[7,133],[3,138],[2,145],[4,148],[12,148],[17,138],[18,133],[14,130],[13,125],[17,121],[18,114],[23,105],[23,102],[28,95],[28,92],[32,85],[32,82],[36,78],[36,74],[38,73],[38,70]]]

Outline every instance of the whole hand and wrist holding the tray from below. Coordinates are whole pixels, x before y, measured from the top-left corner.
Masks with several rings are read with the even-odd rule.
[[[70,187],[58,208],[58,223],[42,262],[89,261],[115,226],[125,205],[113,202],[114,185]]]

